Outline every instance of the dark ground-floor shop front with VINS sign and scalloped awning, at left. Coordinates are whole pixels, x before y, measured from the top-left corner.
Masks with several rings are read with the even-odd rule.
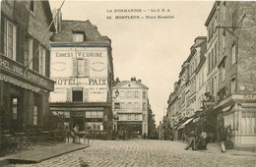
[[[25,66],[0,57],[1,132],[22,132],[27,126],[43,126],[53,81]]]

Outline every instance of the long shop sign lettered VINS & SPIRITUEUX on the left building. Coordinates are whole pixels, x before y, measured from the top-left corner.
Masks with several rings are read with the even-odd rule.
[[[37,83],[47,89],[53,90],[53,81],[33,72],[32,70],[20,65],[19,63],[5,57],[0,56],[0,71],[9,72],[15,76],[18,76],[28,82]]]

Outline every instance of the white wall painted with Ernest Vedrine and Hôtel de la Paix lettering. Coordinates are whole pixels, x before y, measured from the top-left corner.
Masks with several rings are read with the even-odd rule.
[[[50,101],[66,102],[69,91],[80,88],[84,102],[106,102],[107,67],[105,47],[53,47]]]

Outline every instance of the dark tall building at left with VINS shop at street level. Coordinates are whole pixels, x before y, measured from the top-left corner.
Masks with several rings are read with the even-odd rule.
[[[0,132],[43,126],[54,89],[49,79],[51,22],[48,1],[1,1]]]

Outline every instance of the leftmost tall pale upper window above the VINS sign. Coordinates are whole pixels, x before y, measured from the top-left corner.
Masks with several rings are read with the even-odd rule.
[[[6,21],[5,29],[5,55],[10,59],[16,60],[16,27],[9,21]]]

